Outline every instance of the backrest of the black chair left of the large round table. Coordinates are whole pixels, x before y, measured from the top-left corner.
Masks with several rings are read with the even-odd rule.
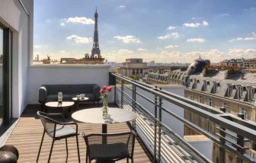
[[[37,116],[40,117],[40,120],[43,123],[43,128],[46,131],[46,133],[49,136],[54,137],[57,125],[56,120],[51,119],[50,114],[43,113],[41,111],[37,111]]]

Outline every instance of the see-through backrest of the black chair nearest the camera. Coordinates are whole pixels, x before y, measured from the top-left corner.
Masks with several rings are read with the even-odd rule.
[[[83,137],[85,139],[85,143],[87,147],[89,145],[103,144],[103,139],[106,139],[107,145],[116,144],[116,143],[126,144],[130,156],[133,155],[135,136],[136,136],[136,133],[134,133],[133,131],[127,132],[127,133],[110,133],[110,134],[95,133],[95,134],[90,134],[88,136],[85,136],[85,133],[83,133]]]

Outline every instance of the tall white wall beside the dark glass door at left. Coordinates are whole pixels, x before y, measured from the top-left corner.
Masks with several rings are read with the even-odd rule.
[[[20,117],[26,106],[27,60],[32,48],[33,0],[22,0],[28,14],[18,0],[0,1],[0,22],[13,34],[13,104],[12,117]]]

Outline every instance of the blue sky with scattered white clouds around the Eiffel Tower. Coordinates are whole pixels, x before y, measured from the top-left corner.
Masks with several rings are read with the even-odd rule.
[[[256,57],[254,0],[35,0],[34,56],[91,53],[95,6],[101,54],[109,61]]]

